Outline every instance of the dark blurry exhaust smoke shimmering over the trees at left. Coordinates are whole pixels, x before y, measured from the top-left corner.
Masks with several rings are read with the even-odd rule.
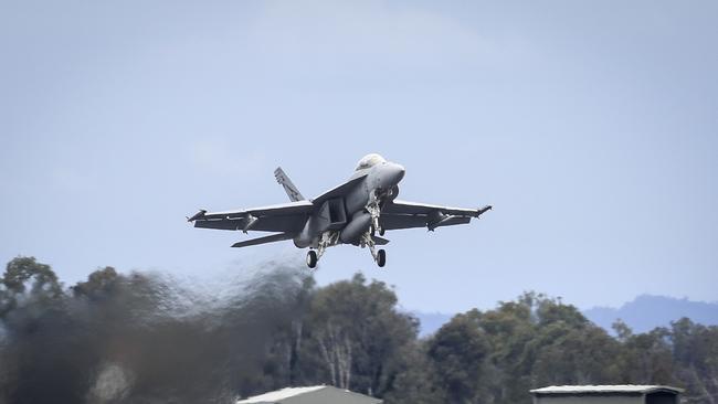
[[[0,326],[0,403],[230,403],[261,386],[267,345],[299,315],[307,281],[267,264],[198,293],[105,268],[67,291],[15,294]]]

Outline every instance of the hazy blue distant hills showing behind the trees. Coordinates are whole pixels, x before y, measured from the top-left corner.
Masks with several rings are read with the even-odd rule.
[[[421,321],[420,336],[422,337],[436,331],[453,317],[442,312],[414,311],[413,315]],[[583,315],[610,333],[613,333],[611,325],[619,318],[627,323],[633,332],[640,333],[656,327],[668,327],[671,321],[682,317],[688,317],[694,322],[705,326],[718,326],[718,301],[691,301],[666,296],[641,295],[620,308],[594,307],[583,310]]]

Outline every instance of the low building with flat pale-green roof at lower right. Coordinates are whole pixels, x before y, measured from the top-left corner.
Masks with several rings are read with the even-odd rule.
[[[682,389],[665,385],[552,385],[531,390],[534,404],[679,404]]]

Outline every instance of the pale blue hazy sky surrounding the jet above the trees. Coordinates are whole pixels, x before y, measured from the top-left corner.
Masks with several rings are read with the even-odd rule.
[[[716,1],[0,2],[0,261],[198,283],[275,259],[192,228],[379,152],[469,226],[323,257],[424,311],[522,290],[580,307],[718,300]]]

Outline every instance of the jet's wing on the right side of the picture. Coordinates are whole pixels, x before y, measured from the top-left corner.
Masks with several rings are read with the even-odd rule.
[[[384,230],[426,227],[433,231],[468,223],[472,217],[478,217],[490,209],[490,205],[464,209],[394,200],[382,208],[379,225]]]

